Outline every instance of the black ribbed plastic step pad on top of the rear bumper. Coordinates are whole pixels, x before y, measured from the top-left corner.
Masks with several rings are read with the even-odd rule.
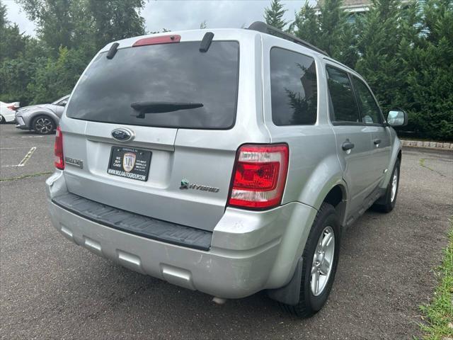
[[[212,232],[134,214],[102,203],[88,200],[74,193],[52,199],[59,207],[93,222],[128,232],[147,239],[208,251]]]

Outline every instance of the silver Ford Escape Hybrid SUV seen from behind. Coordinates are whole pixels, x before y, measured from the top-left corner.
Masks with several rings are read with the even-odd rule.
[[[271,34],[269,34],[271,33]],[[394,208],[401,144],[359,74],[265,23],[113,42],[69,98],[47,179],[55,227],[222,301],[308,317],[340,235]]]

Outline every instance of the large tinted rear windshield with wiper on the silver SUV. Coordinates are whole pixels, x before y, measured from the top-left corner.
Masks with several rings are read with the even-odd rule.
[[[98,55],[80,79],[69,118],[167,128],[228,129],[236,118],[239,43],[179,42],[120,49]],[[177,111],[137,117],[132,103],[197,103]],[[202,104],[202,106],[200,106]]]

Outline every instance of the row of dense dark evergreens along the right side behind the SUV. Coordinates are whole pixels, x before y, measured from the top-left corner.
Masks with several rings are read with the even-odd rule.
[[[372,0],[354,16],[342,1],[318,4],[294,13],[289,32],[362,74],[384,113],[408,111],[416,137],[453,140],[453,0]]]

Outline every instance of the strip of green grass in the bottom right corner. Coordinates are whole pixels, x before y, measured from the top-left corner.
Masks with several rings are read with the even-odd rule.
[[[432,301],[420,306],[425,324],[420,327],[425,340],[453,340],[453,217],[450,219],[448,246],[442,264],[435,268],[439,283]]]

